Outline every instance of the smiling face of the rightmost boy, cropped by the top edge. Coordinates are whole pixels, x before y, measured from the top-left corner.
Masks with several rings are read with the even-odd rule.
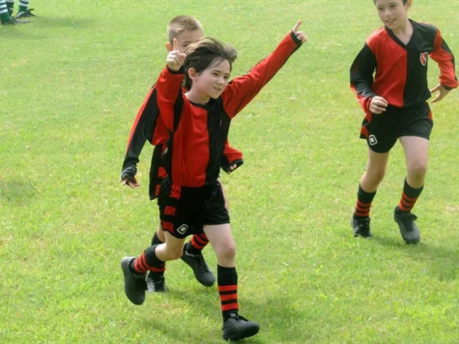
[[[385,26],[391,30],[403,29],[408,23],[408,10],[411,7],[412,0],[376,0],[376,10],[378,17]]]

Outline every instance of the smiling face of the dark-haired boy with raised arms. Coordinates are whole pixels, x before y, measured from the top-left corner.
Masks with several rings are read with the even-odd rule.
[[[210,98],[217,99],[230,81],[230,72],[230,62],[223,59],[214,60],[200,73],[196,73],[193,68],[189,69],[188,75],[193,81],[191,93],[204,102]]]

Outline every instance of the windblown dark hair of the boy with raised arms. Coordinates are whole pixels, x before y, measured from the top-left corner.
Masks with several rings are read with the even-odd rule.
[[[188,76],[188,69],[194,68],[197,73],[200,73],[223,60],[227,60],[230,63],[231,72],[233,62],[237,58],[237,51],[231,44],[225,44],[215,38],[203,38],[199,42],[191,44],[186,48],[184,54],[186,54],[184,61],[184,88],[186,90],[190,90],[193,83]]]

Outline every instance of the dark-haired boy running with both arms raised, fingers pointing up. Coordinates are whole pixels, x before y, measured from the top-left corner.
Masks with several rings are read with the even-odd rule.
[[[170,131],[163,152],[168,177],[161,183],[158,202],[166,243],[152,245],[138,257],[122,259],[124,290],[134,304],[145,300],[145,273],[178,259],[186,236],[202,228],[218,260],[223,338],[238,340],[259,331],[257,322],[239,315],[236,243],[218,183],[219,165],[232,118],[305,42],[299,25],[270,56],[232,81],[230,72],[237,56],[233,47],[207,38],[182,54],[174,40],[167,66],[156,82],[159,115]],[[182,81],[187,91],[177,97]]]

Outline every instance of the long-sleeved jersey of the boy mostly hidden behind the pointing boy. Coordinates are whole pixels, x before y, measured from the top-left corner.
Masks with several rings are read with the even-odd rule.
[[[177,96],[181,92],[177,91]],[[156,85],[153,85],[147,97],[145,97],[142,106],[140,106],[136,120],[131,128],[121,173],[121,179],[129,178],[135,181],[137,173],[136,166],[145,142],[148,140],[148,142],[154,145],[155,148],[150,165],[150,199],[155,199],[158,196],[159,183],[167,175],[166,170],[161,165],[161,154],[166,148],[165,144],[169,136],[170,132],[161,116],[159,116],[157,90]],[[236,167],[239,167],[242,163],[242,152],[230,147],[228,142],[225,142],[225,149],[223,149],[223,154],[220,156],[220,167],[226,172],[230,172],[230,166],[236,165]]]

